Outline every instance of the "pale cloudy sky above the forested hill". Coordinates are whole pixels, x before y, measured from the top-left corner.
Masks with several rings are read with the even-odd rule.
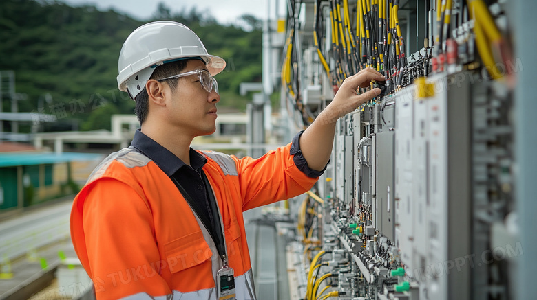
[[[148,19],[154,12],[158,3],[162,2],[172,12],[180,10],[190,11],[196,5],[198,12],[207,10],[219,21],[219,23],[229,24],[242,14],[253,14],[258,19],[266,19],[267,1],[269,0],[61,0],[72,6],[83,4],[96,5],[99,10],[114,8],[118,12],[125,12],[136,19]]]

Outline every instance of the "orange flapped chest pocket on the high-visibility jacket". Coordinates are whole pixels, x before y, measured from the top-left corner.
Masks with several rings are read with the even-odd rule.
[[[196,231],[164,245],[166,260],[171,273],[176,273],[211,259],[213,251],[203,238],[202,231]]]

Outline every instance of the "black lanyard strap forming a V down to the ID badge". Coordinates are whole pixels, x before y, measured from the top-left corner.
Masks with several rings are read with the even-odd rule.
[[[213,214],[213,219],[215,219],[215,222],[218,222],[217,226],[215,226],[215,227],[218,227],[218,229],[220,229],[220,230],[218,230],[218,232],[215,232],[215,235],[220,234],[218,236],[218,238],[213,237],[213,235],[211,235],[211,231],[207,228],[207,226],[204,224],[204,222],[201,222],[200,215],[198,214],[198,212],[196,212],[196,209],[193,209],[192,205],[190,205],[190,203],[194,203],[194,200],[189,195],[189,193],[187,192],[185,187],[183,187],[179,183],[179,181],[177,181],[177,179],[174,178],[173,176],[170,176],[170,178],[176,184],[176,186],[178,187],[179,192],[181,192],[182,196],[187,200],[187,203],[189,203],[189,206],[192,209],[192,211],[194,212],[194,214],[196,214],[196,216],[198,216],[198,218],[200,219],[200,222],[203,224],[205,229],[207,229],[207,231],[209,231],[209,235],[211,235],[211,238],[213,239],[213,242],[214,242],[214,244],[216,246],[216,251],[218,251],[218,255],[220,256],[220,258],[222,258],[222,262],[224,262],[224,266],[227,266],[227,253],[226,253],[226,248],[225,248],[224,232],[223,232],[223,229],[222,229],[222,223],[220,222],[220,211],[218,209],[218,205],[216,204],[216,199],[213,196],[211,184],[209,183],[209,180],[207,180],[207,176],[205,176],[205,173],[203,172],[203,170],[201,170],[200,173],[201,173],[201,176],[202,176],[202,179],[203,179],[203,183],[205,185],[205,189],[207,189],[208,200],[213,205],[213,207],[211,209],[211,212]],[[211,189],[211,191],[209,191],[209,189]]]

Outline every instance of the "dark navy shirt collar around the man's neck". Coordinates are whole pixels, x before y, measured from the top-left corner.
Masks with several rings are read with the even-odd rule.
[[[173,175],[177,170],[187,165],[180,158],[176,157],[175,154],[160,145],[160,143],[157,143],[151,137],[141,132],[140,129],[134,132],[134,139],[132,139],[131,146],[154,161],[167,176]],[[199,170],[207,163],[207,159],[192,148],[190,148],[189,155],[189,167],[194,170]]]

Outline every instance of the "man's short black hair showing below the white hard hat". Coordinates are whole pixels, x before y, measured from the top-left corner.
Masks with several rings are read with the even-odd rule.
[[[169,76],[176,75],[180,73],[185,67],[187,67],[187,62],[189,60],[178,60],[175,62],[168,62],[164,65],[160,65],[156,67],[155,71],[153,71],[153,74],[151,74],[151,77],[149,79],[155,79],[158,80],[160,78],[166,78]],[[171,88],[171,91],[175,92],[177,88],[177,82],[178,80],[166,80],[168,85]],[[136,102],[136,106],[134,108],[134,111],[136,113],[136,117],[138,117],[138,122],[140,122],[140,125],[145,122],[147,119],[147,115],[149,115],[149,95],[147,95],[147,91],[145,88],[136,95],[134,98]]]

